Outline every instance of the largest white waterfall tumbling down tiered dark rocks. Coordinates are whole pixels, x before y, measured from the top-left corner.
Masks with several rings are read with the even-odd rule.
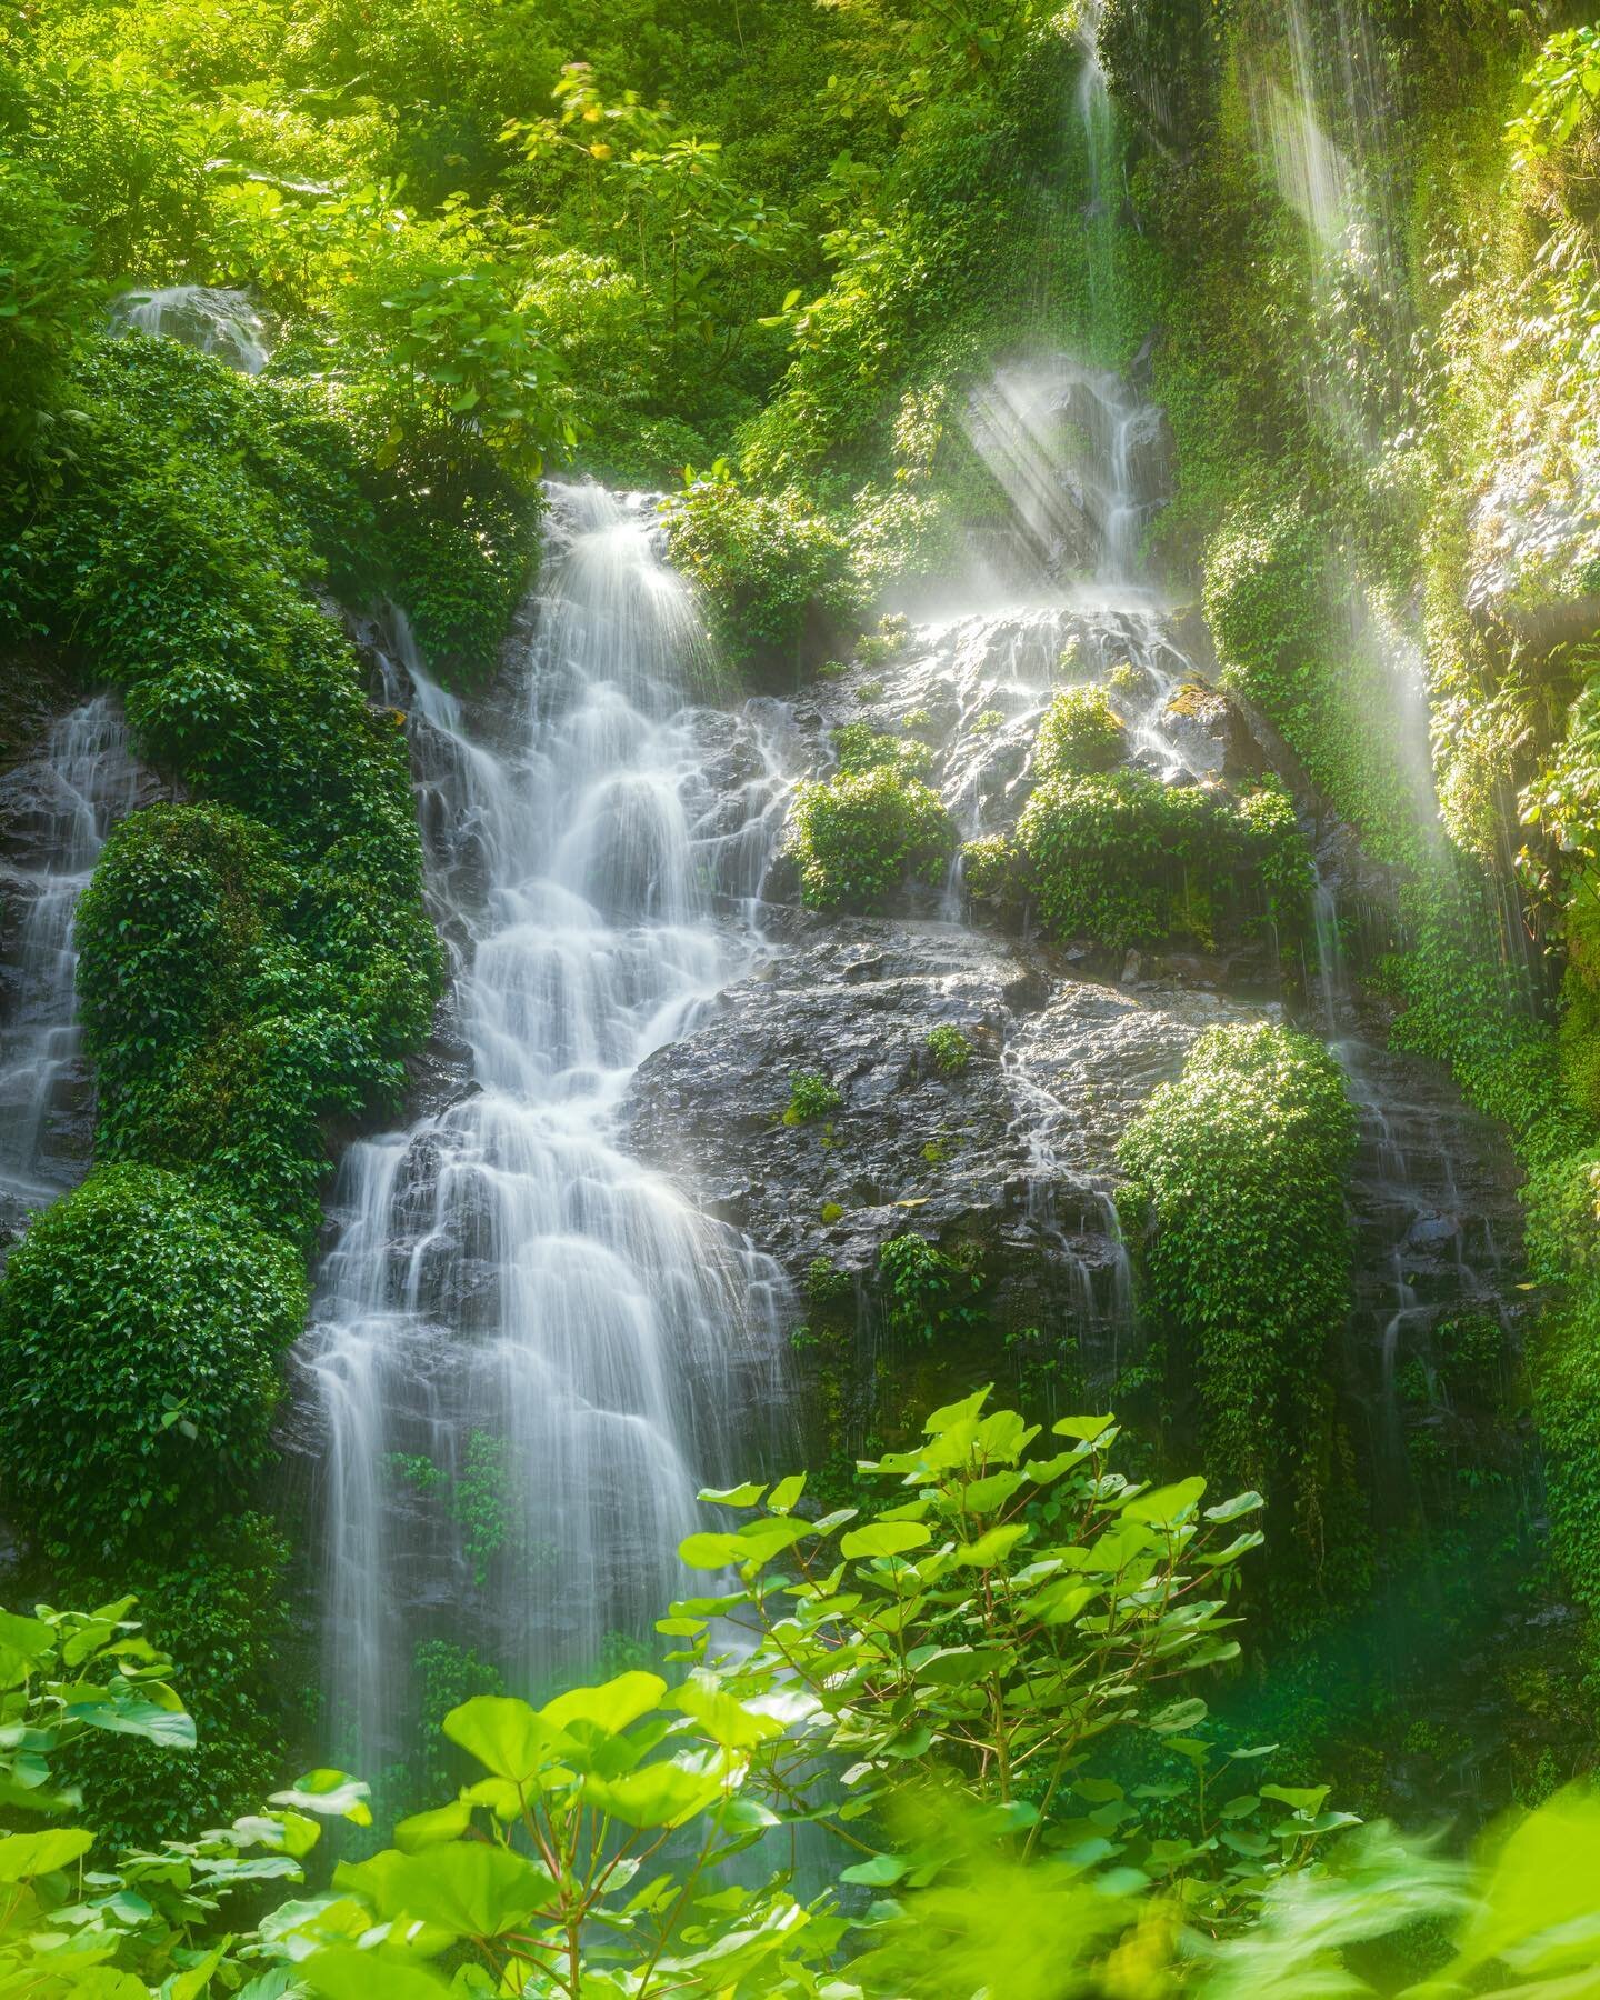
[[[404,1754],[416,1646],[522,1692],[592,1672],[680,1588],[702,1480],[782,1404],[778,1268],[620,1150],[640,1060],[742,972],[784,782],[760,704],[708,778],[690,600],[654,508],[552,488],[496,746],[412,668],[460,1080],[358,1144],[306,1360],[328,1678],[358,1768]]]

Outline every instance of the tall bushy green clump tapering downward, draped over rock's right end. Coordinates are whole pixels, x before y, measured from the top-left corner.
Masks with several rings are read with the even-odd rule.
[[[1210,1028],[1118,1146],[1146,1302],[1192,1358],[1214,1478],[1268,1492],[1314,1448],[1306,1396],[1350,1310],[1356,1114],[1288,1028]]]

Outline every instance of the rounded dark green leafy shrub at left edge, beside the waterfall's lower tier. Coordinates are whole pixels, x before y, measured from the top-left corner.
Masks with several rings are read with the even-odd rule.
[[[306,1298],[290,1244],[178,1174],[90,1174],[34,1222],[0,1286],[12,1520],[98,1560],[226,1504],[266,1458]]]

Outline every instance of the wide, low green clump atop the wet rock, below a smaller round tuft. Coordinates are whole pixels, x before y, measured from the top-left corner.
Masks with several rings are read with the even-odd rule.
[[[1054,936],[1108,950],[1162,938],[1210,948],[1224,922],[1296,934],[1312,884],[1280,790],[1234,802],[1134,770],[1048,778],[1022,812],[1014,852]],[[990,872],[980,856],[980,880]]]

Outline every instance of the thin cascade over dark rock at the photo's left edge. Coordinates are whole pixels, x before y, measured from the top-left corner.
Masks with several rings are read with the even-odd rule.
[[[122,708],[100,694],[54,724],[40,756],[0,778],[8,922],[0,980],[0,1226],[88,1164],[90,1084],[78,1058],[72,914],[140,770]]]

